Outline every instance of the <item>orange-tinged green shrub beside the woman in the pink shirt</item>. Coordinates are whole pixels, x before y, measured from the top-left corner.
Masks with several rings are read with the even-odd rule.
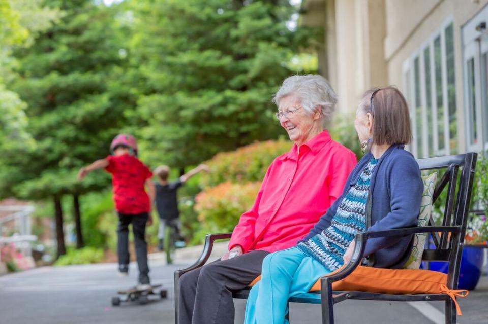
[[[199,186],[185,185],[180,190],[185,194],[178,201],[182,234],[188,244],[202,243],[208,233],[232,231],[242,212],[253,204],[271,162],[292,146],[283,138],[255,142],[205,162],[211,171],[199,174]],[[202,187],[206,189],[196,195]]]

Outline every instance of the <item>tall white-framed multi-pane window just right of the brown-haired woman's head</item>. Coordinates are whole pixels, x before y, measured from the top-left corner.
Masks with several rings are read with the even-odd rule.
[[[405,61],[403,73],[414,136],[411,152],[417,158],[457,153],[452,19]]]

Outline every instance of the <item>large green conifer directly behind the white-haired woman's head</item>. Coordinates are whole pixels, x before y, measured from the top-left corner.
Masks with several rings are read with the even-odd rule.
[[[130,58],[144,80],[133,117],[149,161],[182,168],[283,133],[271,97],[316,34],[287,27],[297,8],[286,0],[128,6]]]

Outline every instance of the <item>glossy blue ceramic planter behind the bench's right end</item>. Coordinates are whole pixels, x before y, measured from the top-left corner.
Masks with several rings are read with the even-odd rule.
[[[483,267],[483,249],[465,246],[461,258],[459,289],[473,290],[478,284]],[[447,262],[430,262],[429,269],[447,273]]]

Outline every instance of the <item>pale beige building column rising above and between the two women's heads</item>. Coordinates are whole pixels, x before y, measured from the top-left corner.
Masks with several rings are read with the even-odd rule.
[[[388,83],[384,0],[335,0],[338,110],[354,115],[365,90]]]

